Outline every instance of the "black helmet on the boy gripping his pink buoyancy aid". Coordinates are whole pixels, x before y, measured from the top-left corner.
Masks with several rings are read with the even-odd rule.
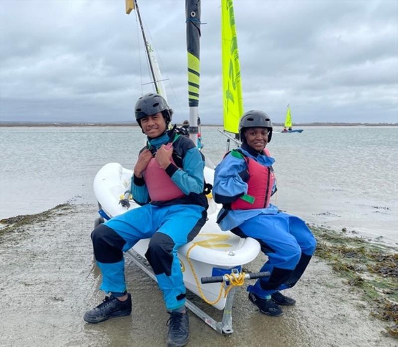
[[[142,118],[162,112],[167,128],[171,122],[171,116],[173,114],[173,111],[167,104],[165,98],[157,93],[147,93],[139,97],[135,103],[134,109],[135,119],[137,120],[139,126],[141,126]]]

